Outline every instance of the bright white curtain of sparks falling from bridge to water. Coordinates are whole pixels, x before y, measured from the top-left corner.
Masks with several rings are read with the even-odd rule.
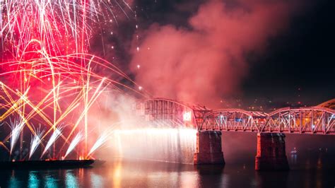
[[[121,129],[114,131],[112,143],[122,158],[193,163],[196,129]]]

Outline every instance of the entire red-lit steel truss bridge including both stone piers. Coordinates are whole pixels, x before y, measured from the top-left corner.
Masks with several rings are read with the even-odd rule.
[[[335,135],[335,99],[314,107],[283,107],[274,112],[211,110],[176,100],[152,98],[136,103],[146,122],[197,129],[194,164],[224,164],[221,131],[257,133],[256,170],[288,169],[285,134]]]

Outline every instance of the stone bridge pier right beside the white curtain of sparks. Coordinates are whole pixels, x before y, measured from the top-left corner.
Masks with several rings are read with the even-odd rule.
[[[221,131],[199,131],[196,133],[194,165],[225,164],[221,146]]]

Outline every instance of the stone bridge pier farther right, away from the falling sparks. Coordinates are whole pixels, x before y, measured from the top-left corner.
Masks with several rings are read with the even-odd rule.
[[[285,134],[257,134],[255,170],[289,170]]]

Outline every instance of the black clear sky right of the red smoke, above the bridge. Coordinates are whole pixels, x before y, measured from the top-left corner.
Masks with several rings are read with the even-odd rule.
[[[335,97],[334,1],[318,1],[291,20],[255,59],[244,90],[254,96],[322,102]]]

